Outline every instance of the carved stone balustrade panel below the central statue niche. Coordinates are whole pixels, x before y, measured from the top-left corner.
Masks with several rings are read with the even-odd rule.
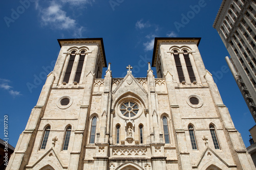
[[[147,154],[147,150],[146,149],[113,149],[113,155],[132,155],[132,156],[142,156],[142,155],[146,155]]]

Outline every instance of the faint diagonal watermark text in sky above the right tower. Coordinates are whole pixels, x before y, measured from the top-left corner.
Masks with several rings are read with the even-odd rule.
[[[211,0],[209,0],[211,1]],[[201,8],[204,8],[207,4],[205,3],[205,0],[199,0],[198,1],[198,5],[190,5],[189,8],[191,10],[189,10],[186,15],[185,14],[181,14],[181,21],[175,21],[174,22],[174,26],[176,27],[177,31],[180,32],[180,28],[184,28],[185,25],[187,25],[191,19],[193,19],[196,14],[198,14],[201,11]]]

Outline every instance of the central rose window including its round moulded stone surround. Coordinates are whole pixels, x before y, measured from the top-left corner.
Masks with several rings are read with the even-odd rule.
[[[135,119],[144,110],[144,105],[132,96],[121,99],[116,105],[117,114],[123,119]]]

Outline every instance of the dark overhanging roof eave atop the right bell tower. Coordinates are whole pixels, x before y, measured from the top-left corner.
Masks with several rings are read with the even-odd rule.
[[[160,43],[184,43],[184,42],[194,42],[197,43],[197,46],[199,45],[201,38],[173,38],[173,37],[155,37],[155,43],[154,43],[154,50],[153,50],[153,58],[152,58],[152,67],[155,67],[156,65],[156,55],[158,54],[158,46]]]

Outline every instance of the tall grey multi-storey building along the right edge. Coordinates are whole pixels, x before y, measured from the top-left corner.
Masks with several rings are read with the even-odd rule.
[[[230,59],[228,66],[256,122],[256,1],[223,1],[213,27],[218,31]],[[256,164],[256,127],[250,130],[248,147]]]

